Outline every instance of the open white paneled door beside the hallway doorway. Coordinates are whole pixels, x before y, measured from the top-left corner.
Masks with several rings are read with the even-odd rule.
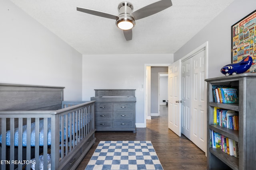
[[[168,67],[168,127],[178,136],[181,136],[180,67],[180,60]]]

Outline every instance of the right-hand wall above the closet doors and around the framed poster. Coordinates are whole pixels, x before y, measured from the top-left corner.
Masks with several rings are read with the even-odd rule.
[[[208,41],[208,78],[224,76],[220,68],[232,63],[231,26],[256,8],[256,0],[234,0],[204,29],[174,53],[174,61],[181,59]]]

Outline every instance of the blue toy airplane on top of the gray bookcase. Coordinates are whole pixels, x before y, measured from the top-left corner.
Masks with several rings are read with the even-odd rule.
[[[220,72],[222,74],[225,74],[226,76],[229,76],[230,74],[232,75],[240,74],[240,73],[246,72],[252,66],[252,64],[254,64],[252,62],[252,57],[248,55],[248,57],[244,58],[239,63],[228,64],[222,67]]]

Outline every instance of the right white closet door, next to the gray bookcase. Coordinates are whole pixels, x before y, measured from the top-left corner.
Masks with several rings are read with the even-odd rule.
[[[200,149],[206,152],[206,55],[205,50],[192,57],[192,100],[191,138]]]

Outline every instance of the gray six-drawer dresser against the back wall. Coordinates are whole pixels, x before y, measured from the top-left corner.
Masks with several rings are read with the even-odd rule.
[[[133,131],[135,126],[134,89],[95,89],[96,131]]]

